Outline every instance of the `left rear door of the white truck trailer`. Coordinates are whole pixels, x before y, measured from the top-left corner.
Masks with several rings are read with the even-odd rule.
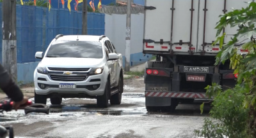
[[[190,50],[195,51],[198,1],[147,0],[143,50],[168,52],[169,43],[172,43],[174,52],[188,52],[191,43]],[[150,6],[156,9],[149,10]],[[155,43],[150,43],[150,39]],[[163,44],[160,43],[161,39]]]

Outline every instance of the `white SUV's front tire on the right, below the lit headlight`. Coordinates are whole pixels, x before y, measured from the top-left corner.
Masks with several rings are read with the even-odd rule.
[[[97,97],[97,106],[102,108],[108,107],[109,93],[110,93],[110,82],[108,80],[106,83],[104,94]]]

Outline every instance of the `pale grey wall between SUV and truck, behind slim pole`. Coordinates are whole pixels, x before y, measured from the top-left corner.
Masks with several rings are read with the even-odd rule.
[[[125,56],[125,29],[126,15],[105,15],[105,34],[123,57]],[[144,56],[142,53],[143,29],[144,14],[131,15],[131,66],[141,64],[152,57],[152,55]],[[123,59],[125,61],[125,57]]]

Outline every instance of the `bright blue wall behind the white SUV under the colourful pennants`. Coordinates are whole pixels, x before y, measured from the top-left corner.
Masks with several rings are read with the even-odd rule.
[[[45,51],[57,34],[81,34],[82,13],[67,9],[22,6],[17,4],[17,72],[18,81],[30,83],[40,60],[35,53]],[[105,34],[105,15],[88,13],[88,34]],[[0,3],[2,22],[2,3]],[[0,28],[0,38],[3,38]],[[0,39],[0,62],[2,62],[2,39]]]

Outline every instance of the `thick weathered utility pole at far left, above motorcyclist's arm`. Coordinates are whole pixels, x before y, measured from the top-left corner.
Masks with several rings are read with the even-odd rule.
[[[3,0],[3,66],[17,81],[16,0]]]

